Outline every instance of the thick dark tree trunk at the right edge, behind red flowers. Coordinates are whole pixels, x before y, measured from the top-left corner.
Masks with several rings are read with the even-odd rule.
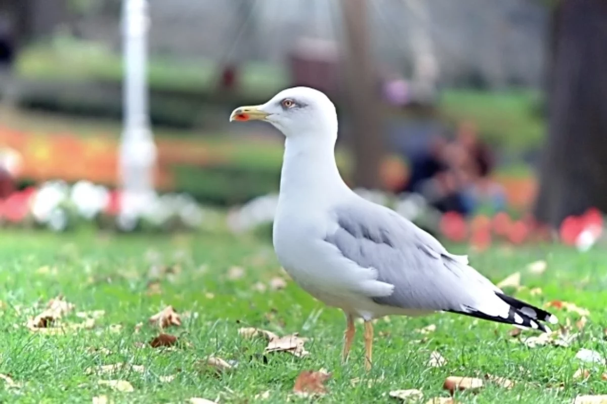
[[[548,140],[535,216],[607,212],[607,1],[561,0],[551,25]]]

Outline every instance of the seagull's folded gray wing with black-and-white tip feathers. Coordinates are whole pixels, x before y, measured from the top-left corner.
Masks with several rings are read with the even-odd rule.
[[[550,316],[503,295],[468,265],[466,256],[450,254],[432,235],[393,210],[361,198],[336,207],[333,215],[337,230],[325,241],[362,268],[375,268],[379,281],[394,285],[392,295],[370,296],[380,305],[461,312],[513,324],[515,314],[539,315],[540,320]]]

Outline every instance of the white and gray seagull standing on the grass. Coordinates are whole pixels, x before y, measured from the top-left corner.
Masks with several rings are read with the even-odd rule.
[[[543,332],[550,332],[543,322],[558,322],[504,294],[466,255],[451,254],[395,211],[353,192],[337,169],[337,113],[324,93],[286,89],[263,105],[237,108],[229,119],[265,121],[285,135],[274,251],[301,288],[344,311],[344,363],[357,318],[364,321],[367,370],[372,320],[386,315],[452,312]]]

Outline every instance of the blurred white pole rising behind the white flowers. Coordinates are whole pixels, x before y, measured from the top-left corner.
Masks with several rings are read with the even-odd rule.
[[[148,114],[147,0],[123,0],[123,133],[120,177],[123,186],[119,223],[132,227],[155,197],[156,146]]]

